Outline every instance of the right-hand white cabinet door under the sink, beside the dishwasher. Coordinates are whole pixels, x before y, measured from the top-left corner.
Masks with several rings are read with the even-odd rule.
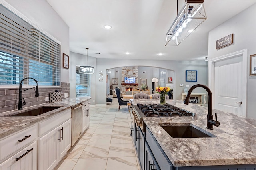
[[[60,159],[68,152],[71,147],[71,119],[60,125],[59,134],[59,148]]]

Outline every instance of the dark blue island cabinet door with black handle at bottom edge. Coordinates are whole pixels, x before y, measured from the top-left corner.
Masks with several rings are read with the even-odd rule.
[[[145,166],[145,170],[160,170],[147,142],[145,142],[145,164],[144,164],[144,166]]]

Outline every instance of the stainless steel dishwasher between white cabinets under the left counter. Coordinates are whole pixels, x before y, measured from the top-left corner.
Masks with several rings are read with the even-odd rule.
[[[72,107],[72,138],[73,146],[82,134],[82,104]]]

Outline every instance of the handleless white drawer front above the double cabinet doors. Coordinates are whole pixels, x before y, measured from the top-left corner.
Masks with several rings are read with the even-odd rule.
[[[47,119],[41,123],[38,123],[38,136],[50,132],[55,127],[58,127],[60,124],[64,123],[71,118],[71,109],[67,109],[57,114],[56,116]]]

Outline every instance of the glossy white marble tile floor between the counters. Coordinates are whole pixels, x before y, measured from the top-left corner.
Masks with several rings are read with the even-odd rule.
[[[68,151],[55,170],[140,170],[127,106],[92,106],[90,128]]]

